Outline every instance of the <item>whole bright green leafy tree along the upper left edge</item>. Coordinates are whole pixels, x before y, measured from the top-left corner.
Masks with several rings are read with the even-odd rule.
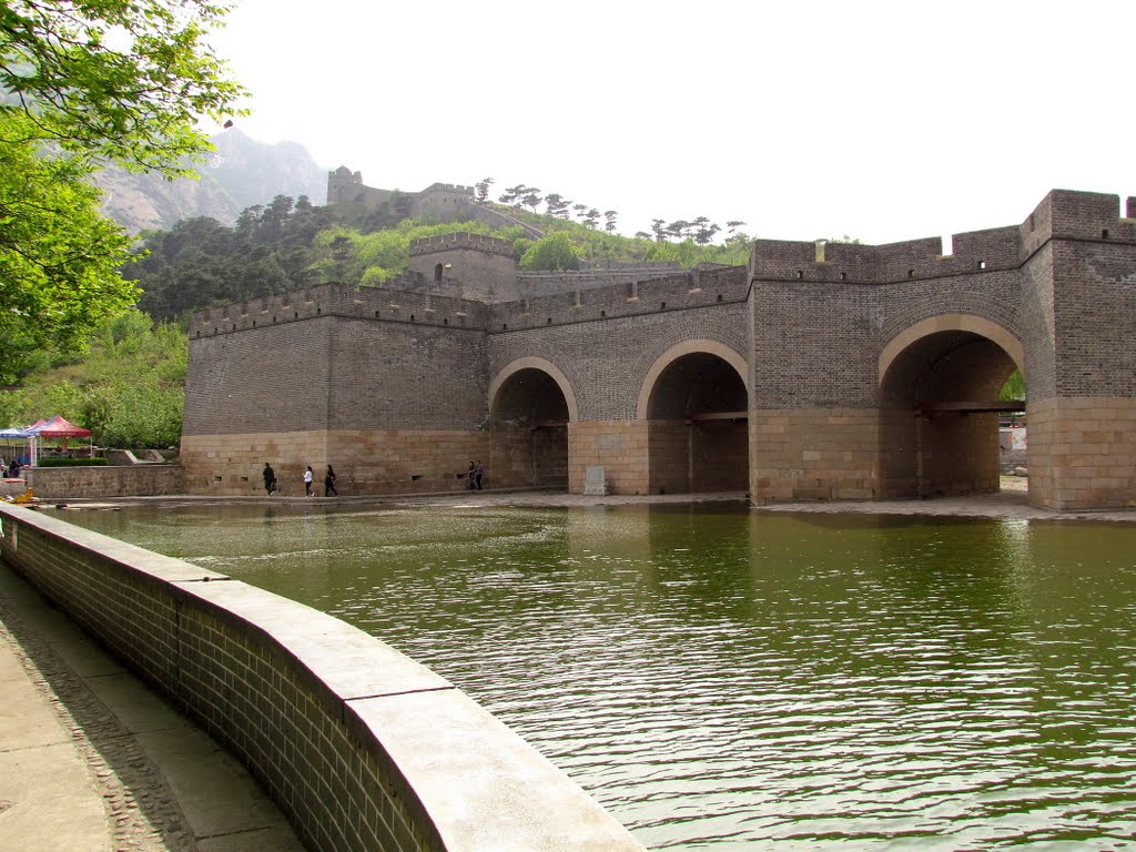
[[[186,174],[209,149],[199,117],[243,92],[204,37],[211,0],[0,3],[0,364],[11,348],[82,348],[136,299],[131,240],[99,216],[100,162]],[[9,356],[15,356],[9,360]]]

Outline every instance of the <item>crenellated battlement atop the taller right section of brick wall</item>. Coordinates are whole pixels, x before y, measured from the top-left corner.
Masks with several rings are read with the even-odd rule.
[[[754,240],[750,274],[766,281],[894,284],[1018,269],[1050,240],[1136,243],[1136,198],[1054,190],[1021,224],[884,245]]]

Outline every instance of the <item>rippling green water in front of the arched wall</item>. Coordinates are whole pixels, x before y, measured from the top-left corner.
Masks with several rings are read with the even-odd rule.
[[[1136,850],[1136,527],[595,509],[68,520],[351,621],[653,850]]]

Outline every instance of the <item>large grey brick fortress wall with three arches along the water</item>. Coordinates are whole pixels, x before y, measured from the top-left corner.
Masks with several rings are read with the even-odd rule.
[[[386,287],[193,317],[185,486],[253,493],[272,461],[284,482],[333,463],[353,494],[454,491],[478,459],[492,487],[579,492],[602,468],[617,494],[987,493],[1020,369],[1030,502],[1133,507],[1134,217],[1054,191],[946,254],[757,240],[746,267],[554,275],[490,237],[423,241]]]

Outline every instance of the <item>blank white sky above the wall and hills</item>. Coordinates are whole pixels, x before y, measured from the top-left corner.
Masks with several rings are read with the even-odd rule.
[[[233,1],[236,126],[369,186],[870,244],[1136,195],[1133,0]]]

